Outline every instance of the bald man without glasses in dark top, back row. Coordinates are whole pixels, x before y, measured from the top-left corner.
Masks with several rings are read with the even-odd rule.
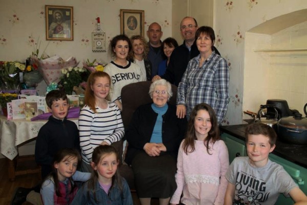
[[[163,35],[163,32],[161,30],[161,26],[154,22],[149,25],[148,31],[147,31],[147,36],[149,38],[149,52],[148,52],[148,60],[151,63],[152,66],[152,73],[151,77],[155,76],[158,74],[158,67],[160,62],[163,60],[162,58],[162,42],[161,42],[161,37]]]

